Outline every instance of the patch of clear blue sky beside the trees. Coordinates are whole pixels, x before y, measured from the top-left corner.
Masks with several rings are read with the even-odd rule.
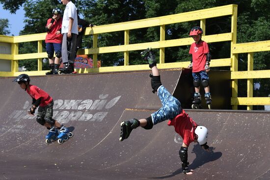
[[[9,28],[10,31],[9,36],[12,34],[14,36],[18,36],[20,30],[23,30],[25,24],[24,24],[24,9],[21,7],[19,10],[17,10],[16,14],[11,14],[9,11],[6,11],[3,9],[2,4],[0,4],[0,19],[8,19],[9,21]]]

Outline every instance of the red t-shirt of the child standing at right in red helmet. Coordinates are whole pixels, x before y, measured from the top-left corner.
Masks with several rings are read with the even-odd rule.
[[[200,41],[191,44],[189,54],[192,54],[192,72],[200,72],[205,70],[206,55],[209,52],[208,44]]]

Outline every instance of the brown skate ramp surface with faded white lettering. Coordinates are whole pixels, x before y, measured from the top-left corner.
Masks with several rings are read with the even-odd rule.
[[[45,143],[48,130],[26,113],[29,95],[13,78],[0,78],[0,180],[269,179],[270,113],[187,110],[209,129],[214,149],[207,153],[190,144],[191,176],[181,170],[182,139],[166,122],[137,128],[120,142],[120,122],[149,117],[161,106],[149,74],[31,77],[54,98],[54,118],[74,134],[61,145]],[[161,75],[170,92],[183,76],[181,70]]]

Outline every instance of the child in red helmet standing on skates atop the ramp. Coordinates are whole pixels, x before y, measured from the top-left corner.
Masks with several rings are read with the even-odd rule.
[[[192,68],[193,85],[195,93],[192,101],[192,109],[201,108],[201,95],[200,85],[204,87],[205,91],[205,102],[208,108],[211,109],[212,98],[209,88],[209,76],[211,54],[209,52],[208,44],[203,41],[202,38],[203,30],[201,27],[192,27],[189,36],[192,36],[194,43],[191,44],[189,53],[192,54],[191,63],[188,68]]]

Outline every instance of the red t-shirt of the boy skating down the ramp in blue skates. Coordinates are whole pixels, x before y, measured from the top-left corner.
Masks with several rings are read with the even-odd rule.
[[[48,93],[37,86],[29,84],[29,90],[27,89],[26,91],[31,96],[31,98],[34,98],[35,100],[41,98],[39,106],[44,107],[53,101],[53,98]]]

